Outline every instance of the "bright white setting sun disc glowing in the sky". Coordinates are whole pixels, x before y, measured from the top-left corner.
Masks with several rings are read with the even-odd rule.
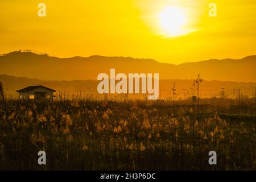
[[[188,33],[185,26],[188,23],[184,9],[174,6],[164,7],[158,15],[162,34],[168,37],[181,36]]]

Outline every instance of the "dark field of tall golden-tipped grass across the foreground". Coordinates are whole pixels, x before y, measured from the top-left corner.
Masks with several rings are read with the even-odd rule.
[[[190,100],[1,102],[0,169],[255,170],[255,98],[202,99],[198,110]]]

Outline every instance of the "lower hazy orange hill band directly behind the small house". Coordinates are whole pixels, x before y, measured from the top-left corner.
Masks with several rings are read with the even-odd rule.
[[[73,80],[73,81],[46,81],[39,79],[32,79],[26,77],[15,77],[0,75],[0,81],[3,83],[5,93],[12,96],[18,96],[16,90],[25,88],[30,85],[44,85],[48,88],[55,89],[57,93],[65,92],[66,94],[82,95],[98,94],[97,85],[99,81],[96,80]],[[161,93],[159,98],[170,97],[170,88],[176,84],[177,98],[183,98],[183,89],[185,90],[185,97],[191,96],[191,88],[193,80],[160,80],[159,91]],[[221,88],[225,88],[225,95],[228,97],[234,97],[237,95],[238,88],[240,88],[240,94],[243,96],[255,96],[256,82],[233,82],[233,81],[206,81],[204,80],[200,85],[201,97],[219,97]],[[196,94],[196,91],[195,91]],[[125,97],[125,94],[121,94],[121,97]],[[141,94],[139,97],[143,97]]]

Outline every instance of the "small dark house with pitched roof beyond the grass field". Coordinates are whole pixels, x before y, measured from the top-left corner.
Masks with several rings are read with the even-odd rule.
[[[35,85],[17,90],[16,92],[19,93],[20,99],[53,100],[53,92],[56,91],[43,85]]]

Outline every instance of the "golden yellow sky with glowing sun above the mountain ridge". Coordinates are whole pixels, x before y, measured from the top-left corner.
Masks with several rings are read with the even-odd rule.
[[[40,2],[46,17],[38,16]],[[217,17],[208,15],[211,2]],[[256,55],[255,10],[255,0],[1,0],[0,53],[32,49],[57,57],[131,56],[172,64],[238,59]]]

